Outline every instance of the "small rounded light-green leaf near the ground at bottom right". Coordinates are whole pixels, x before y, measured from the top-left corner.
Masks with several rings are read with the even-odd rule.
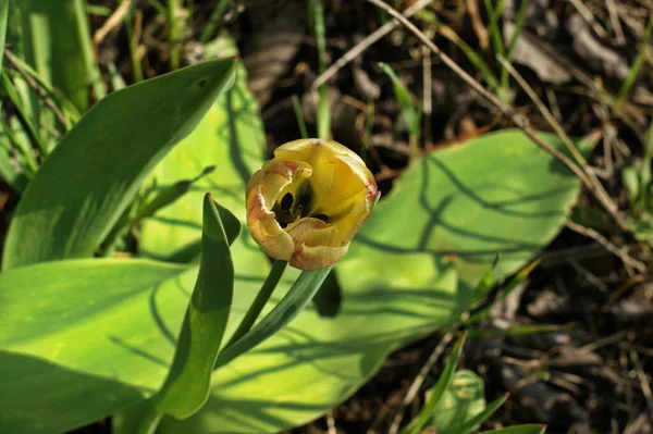
[[[449,386],[433,408],[430,425],[438,429],[438,434],[468,434],[480,424],[469,426],[469,422],[484,409],[483,380],[471,371],[461,370],[454,374]]]

